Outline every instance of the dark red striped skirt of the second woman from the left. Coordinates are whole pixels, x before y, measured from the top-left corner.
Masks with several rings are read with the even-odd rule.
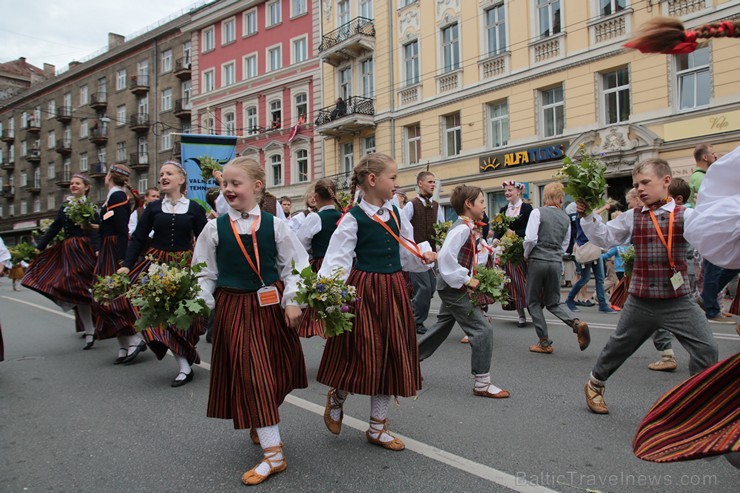
[[[110,276],[118,270],[116,262],[116,245],[118,237],[105,236],[101,241],[98,263],[95,265],[95,278]],[[124,297],[113,300],[110,304],[95,303],[97,317],[95,333],[98,339],[110,339],[116,336],[132,336],[136,333],[129,323],[130,304]]]

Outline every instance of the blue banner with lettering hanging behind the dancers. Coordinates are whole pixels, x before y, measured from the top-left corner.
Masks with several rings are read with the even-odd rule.
[[[214,159],[221,166],[234,159],[236,137],[223,135],[183,134],[180,138],[182,165],[188,174],[188,198],[195,200],[207,211],[206,192],[215,187],[213,178],[204,181],[201,176],[200,162],[205,156]]]

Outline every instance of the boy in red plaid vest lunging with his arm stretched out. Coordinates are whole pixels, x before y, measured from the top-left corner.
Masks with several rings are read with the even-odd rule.
[[[669,330],[689,353],[692,375],[717,362],[717,344],[701,308],[691,300],[686,266],[688,242],[684,219],[693,209],[670,198],[671,168],[662,159],[647,159],[632,171],[644,204],[604,224],[599,216],[585,216],[578,203],[581,227],[601,248],[632,243],[635,262],[629,298],[616,331],[601,351],[586,382],[586,404],[596,414],[608,414],[604,402],[606,380],[648,340],[656,328]]]

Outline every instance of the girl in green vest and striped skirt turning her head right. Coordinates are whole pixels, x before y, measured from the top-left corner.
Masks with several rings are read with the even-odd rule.
[[[324,423],[338,434],[347,395],[369,395],[367,440],[390,450],[405,447],[388,432],[391,396],[411,397],[421,388],[414,315],[401,269],[423,271],[436,258],[428,244],[409,240],[411,224],[391,204],[397,175],[398,166],[384,154],[368,154],[355,166],[352,194],[361,188],[362,202],[340,221],[319,270],[319,277],[327,277],[343,269],[358,297],[352,331],[330,338],[321,359],[317,379],[331,387]]]

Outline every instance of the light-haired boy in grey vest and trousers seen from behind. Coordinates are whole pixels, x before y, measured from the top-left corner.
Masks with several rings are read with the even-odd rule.
[[[533,353],[551,354],[553,351],[543,307],[573,328],[581,351],[591,342],[588,324],[560,304],[560,269],[563,252],[571,240],[570,219],[562,209],[563,198],[565,192],[561,183],[545,185],[545,206],[532,211],[524,233],[524,257],[529,262],[527,309],[539,337],[539,342],[529,347]]]

